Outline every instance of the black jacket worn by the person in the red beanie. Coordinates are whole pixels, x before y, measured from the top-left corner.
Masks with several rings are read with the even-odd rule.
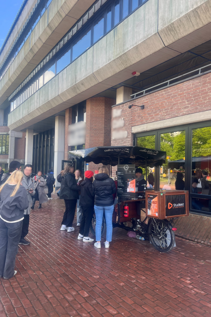
[[[94,208],[94,198],[92,181],[90,178],[85,178],[81,183],[81,197],[79,199],[79,206]]]

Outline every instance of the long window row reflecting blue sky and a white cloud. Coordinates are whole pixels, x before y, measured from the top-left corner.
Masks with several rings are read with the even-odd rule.
[[[75,40],[71,39],[70,43],[65,45],[63,53],[53,61],[47,62],[44,70],[42,72],[40,70],[40,73],[36,77],[34,76],[27,87],[24,87],[22,92],[11,101],[11,111],[22,104],[22,102],[28,99],[92,44],[115,27],[122,19],[128,16],[128,14],[146,1],[147,0],[111,1],[106,9],[101,10],[101,13],[99,12],[95,20],[92,19],[94,21],[87,25],[84,32],[81,32]],[[55,54],[55,56],[56,55],[57,54]]]

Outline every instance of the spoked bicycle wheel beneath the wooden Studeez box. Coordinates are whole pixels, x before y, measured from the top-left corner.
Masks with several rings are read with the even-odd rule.
[[[149,225],[148,232],[150,241],[156,250],[160,252],[170,251],[175,243],[175,235],[171,225],[161,219],[153,219]]]

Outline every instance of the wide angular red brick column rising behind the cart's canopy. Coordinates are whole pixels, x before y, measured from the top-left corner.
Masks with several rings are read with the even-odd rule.
[[[85,148],[111,145],[111,106],[115,101],[106,97],[86,100]]]

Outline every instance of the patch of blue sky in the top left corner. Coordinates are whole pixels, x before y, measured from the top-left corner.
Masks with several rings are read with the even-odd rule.
[[[0,48],[22,5],[23,0],[0,0]]]

